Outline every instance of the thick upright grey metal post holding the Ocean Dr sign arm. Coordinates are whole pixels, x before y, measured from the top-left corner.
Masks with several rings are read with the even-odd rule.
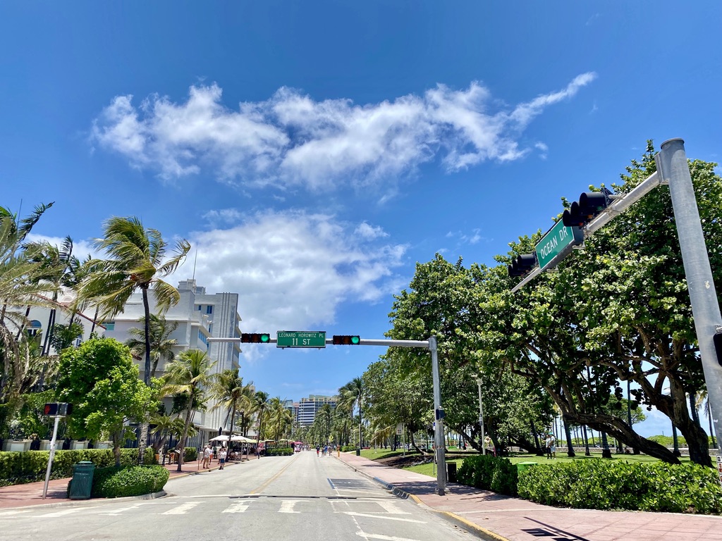
[[[717,363],[713,336],[718,327],[722,327],[722,315],[720,315],[712,269],[700,223],[695,190],[692,186],[690,165],[684,152],[684,141],[679,138],[664,141],[661,151],[654,159],[663,180],[669,182],[669,195],[674,209],[674,221],[677,224],[679,247],[682,249],[687,289],[690,291],[692,316],[695,320],[697,343],[700,346],[702,369],[713,414],[712,421],[715,431],[720,434],[722,366]],[[717,444],[722,452],[722,443],[718,440]]]

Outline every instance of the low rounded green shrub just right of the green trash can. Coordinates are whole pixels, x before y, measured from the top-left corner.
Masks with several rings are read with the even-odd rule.
[[[168,470],[162,466],[101,467],[92,480],[92,498],[141,496],[161,491],[168,482]]]

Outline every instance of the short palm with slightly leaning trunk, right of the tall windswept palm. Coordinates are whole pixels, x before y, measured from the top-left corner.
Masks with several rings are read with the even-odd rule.
[[[188,397],[186,406],[186,421],[183,424],[183,435],[178,443],[178,471],[183,465],[183,451],[186,449],[188,439],[188,428],[193,418],[193,406],[199,402],[203,390],[208,386],[211,379],[209,371],[215,363],[209,359],[205,351],[191,349],[183,351],[178,357],[169,363],[165,372],[165,395],[183,394]]]

